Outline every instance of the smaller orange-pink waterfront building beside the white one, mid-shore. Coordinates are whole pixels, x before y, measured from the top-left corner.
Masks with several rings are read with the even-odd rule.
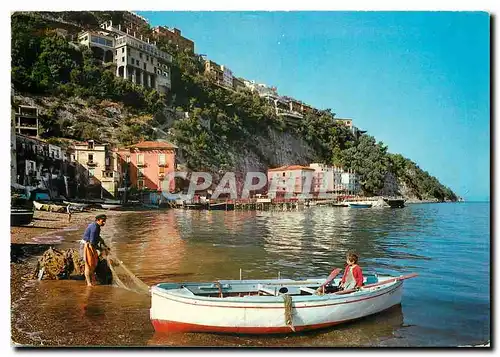
[[[307,177],[311,177],[311,186],[305,187]],[[290,182],[292,180],[292,182]],[[287,187],[292,186],[293,194],[310,193],[314,187],[314,169],[307,166],[289,165],[267,170],[267,182],[269,194],[276,196],[284,195]],[[303,192],[308,191],[308,192]]]

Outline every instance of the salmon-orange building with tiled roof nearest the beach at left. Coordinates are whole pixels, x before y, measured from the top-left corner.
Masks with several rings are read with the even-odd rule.
[[[117,149],[120,177],[126,176],[127,186],[170,192],[175,181],[165,182],[167,175],[175,171],[177,146],[165,141],[143,141],[126,148]]]

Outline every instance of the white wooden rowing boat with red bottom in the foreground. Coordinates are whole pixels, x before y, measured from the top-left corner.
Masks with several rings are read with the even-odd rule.
[[[150,318],[159,332],[271,334],[313,330],[400,304],[402,280],[414,276],[367,275],[358,291],[336,291],[340,279],[334,279],[323,295],[316,289],[325,278],[162,283],[151,288]]]

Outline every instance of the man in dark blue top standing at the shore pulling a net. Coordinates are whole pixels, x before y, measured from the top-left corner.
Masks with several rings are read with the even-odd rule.
[[[109,247],[101,238],[101,227],[106,224],[106,215],[99,214],[95,217],[95,222],[90,223],[83,233],[80,243],[80,254],[85,262],[85,280],[87,286],[92,286],[95,282],[95,268],[99,262],[98,249],[109,251]]]

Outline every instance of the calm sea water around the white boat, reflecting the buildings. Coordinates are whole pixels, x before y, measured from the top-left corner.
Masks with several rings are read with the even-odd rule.
[[[315,207],[294,212],[126,213],[103,237],[147,284],[243,278],[325,277],[360,253],[365,271],[405,281],[402,305],[360,321],[291,336],[155,334],[149,298],[81,281],[27,282],[15,324],[44,344],[189,346],[457,346],[490,340],[490,206],[403,209]],[[57,233],[75,245],[83,227]],[[43,239],[42,239],[43,240]],[[40,319],[28,321],[35,314]],[[44,326],[44,323],[47,326]]]

